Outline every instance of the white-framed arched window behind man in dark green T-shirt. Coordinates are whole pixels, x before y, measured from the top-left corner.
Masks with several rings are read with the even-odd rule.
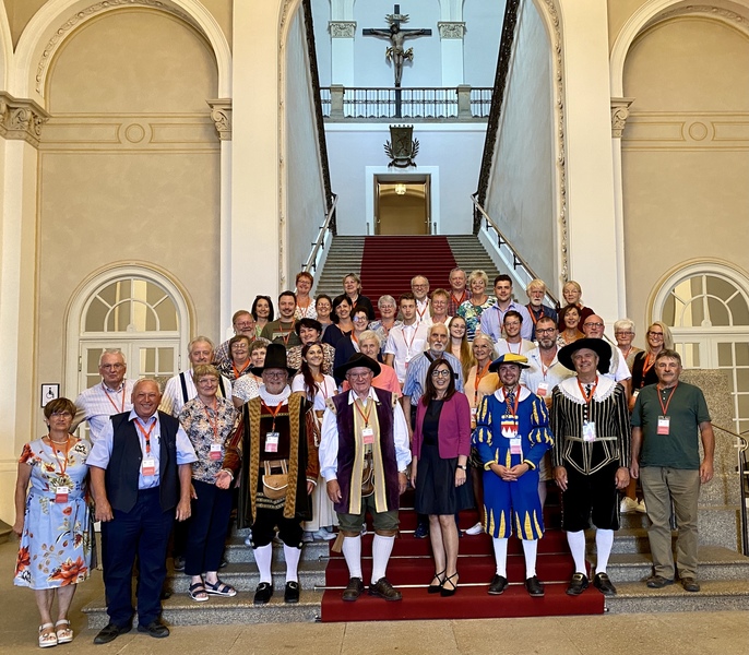
[[[734,428],[749,431],[749,279],[723,264],[693,264],[658,291],[653,315],[671,329],[685,368],[728,371]]]

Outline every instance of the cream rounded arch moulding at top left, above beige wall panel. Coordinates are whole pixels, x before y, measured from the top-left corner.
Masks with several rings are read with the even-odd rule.
[[[209,40],[218,69],[217,96],[231,97],[231,51],[226,36],[200,0],[109,0],[106,5],[92,0],[50,0],[26,25],[16,49],[16,64],[9,91],[16,97],[33,98],[46,107],[44,97],[48,62],[59,45],[91,17],[105,11],[146,7],[168,11],[193,25]]]

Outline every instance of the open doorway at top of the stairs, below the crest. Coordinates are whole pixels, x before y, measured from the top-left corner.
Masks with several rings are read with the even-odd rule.
[[[374,177],[374,234],[431,234],[429,176]]]

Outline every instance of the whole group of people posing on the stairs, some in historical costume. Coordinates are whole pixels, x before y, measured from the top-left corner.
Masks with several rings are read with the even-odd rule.
[[[429,536],[435,560],[430,594],[455,594],[456,519],[476,507],[482,519],[466,533],[492,540],[488,593],[509,584],[514,533],[525,588],[543,596],[536,553],[548,480],[561,490],[574,563],[569,595],[590,583],[591,521],[593,585],[616,594],[607,563],[620,510],[646,511],[652,522],[647,586],[671,584],[678,572],[685,590],[699,591],[697,502],[713,476],[714,439],[702,392],[679,381],[666,325],[653,323],[640,350],[633,323],[617,321],[614,346],[576,283],[564,285],[567,305],[557,311],[544,305],[542,281],[528,284],[522,305],[508,275],[496,277],[489,296],[483,271],[455,269],[431,294],[417,275],[397,302],[379,298],[379,319],[356,274],[335,298],[312,298],[312,286],[309,273],[297,275],[296,291],[277,298],[277,319],[273,300],[258,296],[251,310],[234,314],[235,335],[215,348],[193,338],[191,369],[163,393],[156,380],[127,379],[122,353],[106,349],[100,383],[74,403],[46,405],[48,434],[25,444],[19,461],[13,525],[21,538],[15,583],[35,590],[41,647],[73,639],[68,610],[91,571],[93,521],[102,522],[109,616],[95,643],[130,631],[135,615],[140,632],[169,634],[160,598],[170,541],[190,598],[236,595],[218,577],[233,509],[238,527],[250,528],[255,604],[274,594],[275,538],[286,562],[284,602],[299,600],[304,543],[328,539],[348,567],[343,600],[356,600],[365,591],[367,513],[374,533],[368,593],[400,600],[387,567],[409,485],[415,536]],[[87,439],[74,436],[83,421]]]

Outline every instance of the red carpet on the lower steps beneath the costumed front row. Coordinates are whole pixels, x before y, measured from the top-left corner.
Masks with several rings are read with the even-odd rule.
[[[413,496],[406,495],[404,505]],[[554,499],[550,499],[554,502]],[[568,596],[568,582],[573,573],[572,557],[567,538],[559,527],[559,507],[545,509],[547,525],[544,538],[538,541],[536,570],[546,585],[546,596],[531,598],[523,582],[525,560],[520,540],[510,539],[508,580],[510,587],[501,596],[489,596],[487,590],[495,574],[495,557],[488,535],[464,536],[460,540],[457,593],[450,598],[427,594],[435,567],[429,539],[416,539],[413,529],[416,515],[401,510],[401,536],[395,539],[393,555],[388,564],[388,579],[403,593],[403,600],[388,603],[365,592],[356,603],[341,600],[342,588],[326,590],[322,597],[323,621],[388,621],[418,619],[476,619],[498,617],[534,617],[603,614],[604,597],[593,587],[578,597]],[[461,526],[467,528],[476,522],[476,512],[461,513]],[[365,585],[371,577],[371,525],[362,538],[362,572]],[[325,571],[328,586],[344,587],[348,583],[348,569],[343,556],[331,552]]]

